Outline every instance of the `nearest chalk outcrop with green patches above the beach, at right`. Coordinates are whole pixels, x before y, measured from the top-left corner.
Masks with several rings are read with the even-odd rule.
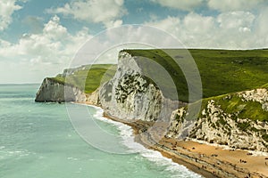
[[[267,96],[266,89],[255,89],[225,96],[222,100],[235,100],[231,102],[233,104],[231,111],[222,109],[224,107],[221,106],[221,100],[207,100],[199,117],[194,121],[185,119],[188,114],[187,108],[177,109],[172,113],[167,136],[218,143],[234,149],[268,152],[268,123],[242,115],[245,112],[243,109],[250,104],[251,109],[263,109],[264,113],[258,113],[259,115],[268,116]],[[260,105],[255,104],[257,102]]]

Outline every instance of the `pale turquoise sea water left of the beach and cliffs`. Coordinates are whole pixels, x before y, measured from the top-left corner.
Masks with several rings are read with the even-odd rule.
[[[77,105],[87,107],[107,132],[120,136],[121,148],[138,153],[96,149],[76,133],[64,104],[34,102],[37,90],[38,85],[0,85],[1,178],[199,177],[134,143],[130,128],[105,121],[101,109]]]

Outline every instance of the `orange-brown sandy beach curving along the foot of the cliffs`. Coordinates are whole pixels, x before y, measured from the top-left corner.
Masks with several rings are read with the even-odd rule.
[[[100,107],[88,102],[78,103]],[[152,138],[153,134],[143,132],[147,131],[152,123],[141,120],[122,120],[110,116],[105,110],[103,116],[107,119],[130,125],[133,129],[135,142],[147,149],[159,151],[163,157],[172,158],[173,162],[186,166],[189,170],[204,177],[268,178],[268,166],[259,164],[262,159],[263,162],[265,161],[266,157],[264,156],[249,155],[247,150],[224,150],[220,146],[201,142],[178,141],[168,138],[162,138],[159,142],[155,142]],[[247,163],[241,163],[241,159],[242,161],[247,160]],[[268,160],[266,162],[268,164]]]

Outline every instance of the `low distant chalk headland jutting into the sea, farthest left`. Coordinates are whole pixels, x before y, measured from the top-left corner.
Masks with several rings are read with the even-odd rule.
[[[38,90],[35,101],[87,101],[87,99],[87,94],[81,92],[79,88],[64,85],[54,78],[46,77]]]

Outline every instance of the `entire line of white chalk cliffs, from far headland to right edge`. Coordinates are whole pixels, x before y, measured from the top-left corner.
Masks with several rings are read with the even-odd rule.
[[[166,121],[169,123],[166,137],[268,151],[267,89],[205,99],[197,119],[186,119],[187,104],[165,98],[157,85],[145,77],[137,59],[130,53],[120,52],[114,77],[91,94],[45,78],[36,101],[88,101],[100,105],[113,117]]]

